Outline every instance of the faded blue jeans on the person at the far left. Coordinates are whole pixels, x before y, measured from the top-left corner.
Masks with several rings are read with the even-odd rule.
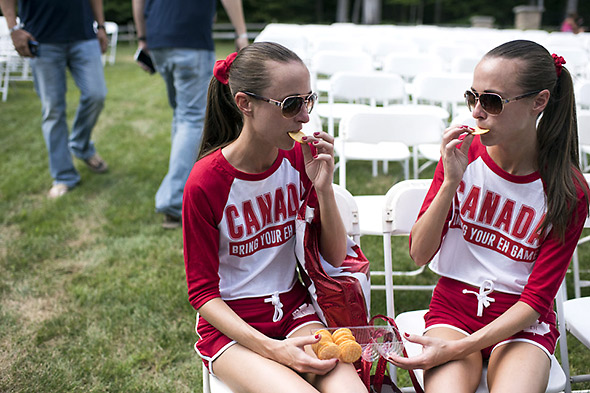
[[[98,40],[39,45],[31,59],[35,90],[41,99],[43,137],[49,152],[53,184],[73,187],[80,182],[72,154],[85,160],[95,154],[90,134],[104,106],[104,80]],[[80,102],[68,135],[66,68],[80,89]]]

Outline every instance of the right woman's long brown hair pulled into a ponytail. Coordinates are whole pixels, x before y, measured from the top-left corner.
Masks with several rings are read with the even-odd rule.
[[[519,60],[516,83],[524,92],[547,89],[549,101],[537,125],[537,168],[545,187],[547,215],[540,231],[549,225],[561,241],[578,203],[578,187],[588,193],[579,166],[578,125],[571,75],[567,68],[558,76],[551,54],[533,41],[515,40],[504,43],[484,58],[499,57]],[[585,220],[586,217],[575,217]]]

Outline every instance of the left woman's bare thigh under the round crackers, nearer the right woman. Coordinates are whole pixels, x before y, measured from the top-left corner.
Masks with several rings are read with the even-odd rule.
[[[290,337],[310,335],[312,331],[321,329],[321,324],[306,325],[290,335]],[[305,347],[305,351],[316,356],[311,346]],[[309,375],[308,380],[322,393],[366,393],[367,388],[358,376],[354,366],[349,363],[339,362],[332,371],[326,375]]]

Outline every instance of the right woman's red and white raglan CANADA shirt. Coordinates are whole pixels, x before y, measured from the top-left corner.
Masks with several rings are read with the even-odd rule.
[[[581,219],[570,219],[561,243],[551,233],[538,233],[547,211],[538,172],[525,176],[507,173],[490,158],[479,137],[473,140],[468,159],[430,268],[475,287],[491,281],[494,291],[519,295],[520,301],[545,316],[552,311],[584,226],[584,192],[578,186]],[[439,162],[419,216],[432,202],[443,178]],[[581,174],[579,178],[583,179]],[[583,184],[586,187],[585,181]]]

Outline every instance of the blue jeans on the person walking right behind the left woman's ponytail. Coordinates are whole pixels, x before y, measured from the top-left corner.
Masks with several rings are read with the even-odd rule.
[[[156,192],[156,211],[180,217],[184,184],[203,137],[215,53],[179,48],[151,49],[150,53],[164,78],[168,102],[174,111],[168,173]]]

